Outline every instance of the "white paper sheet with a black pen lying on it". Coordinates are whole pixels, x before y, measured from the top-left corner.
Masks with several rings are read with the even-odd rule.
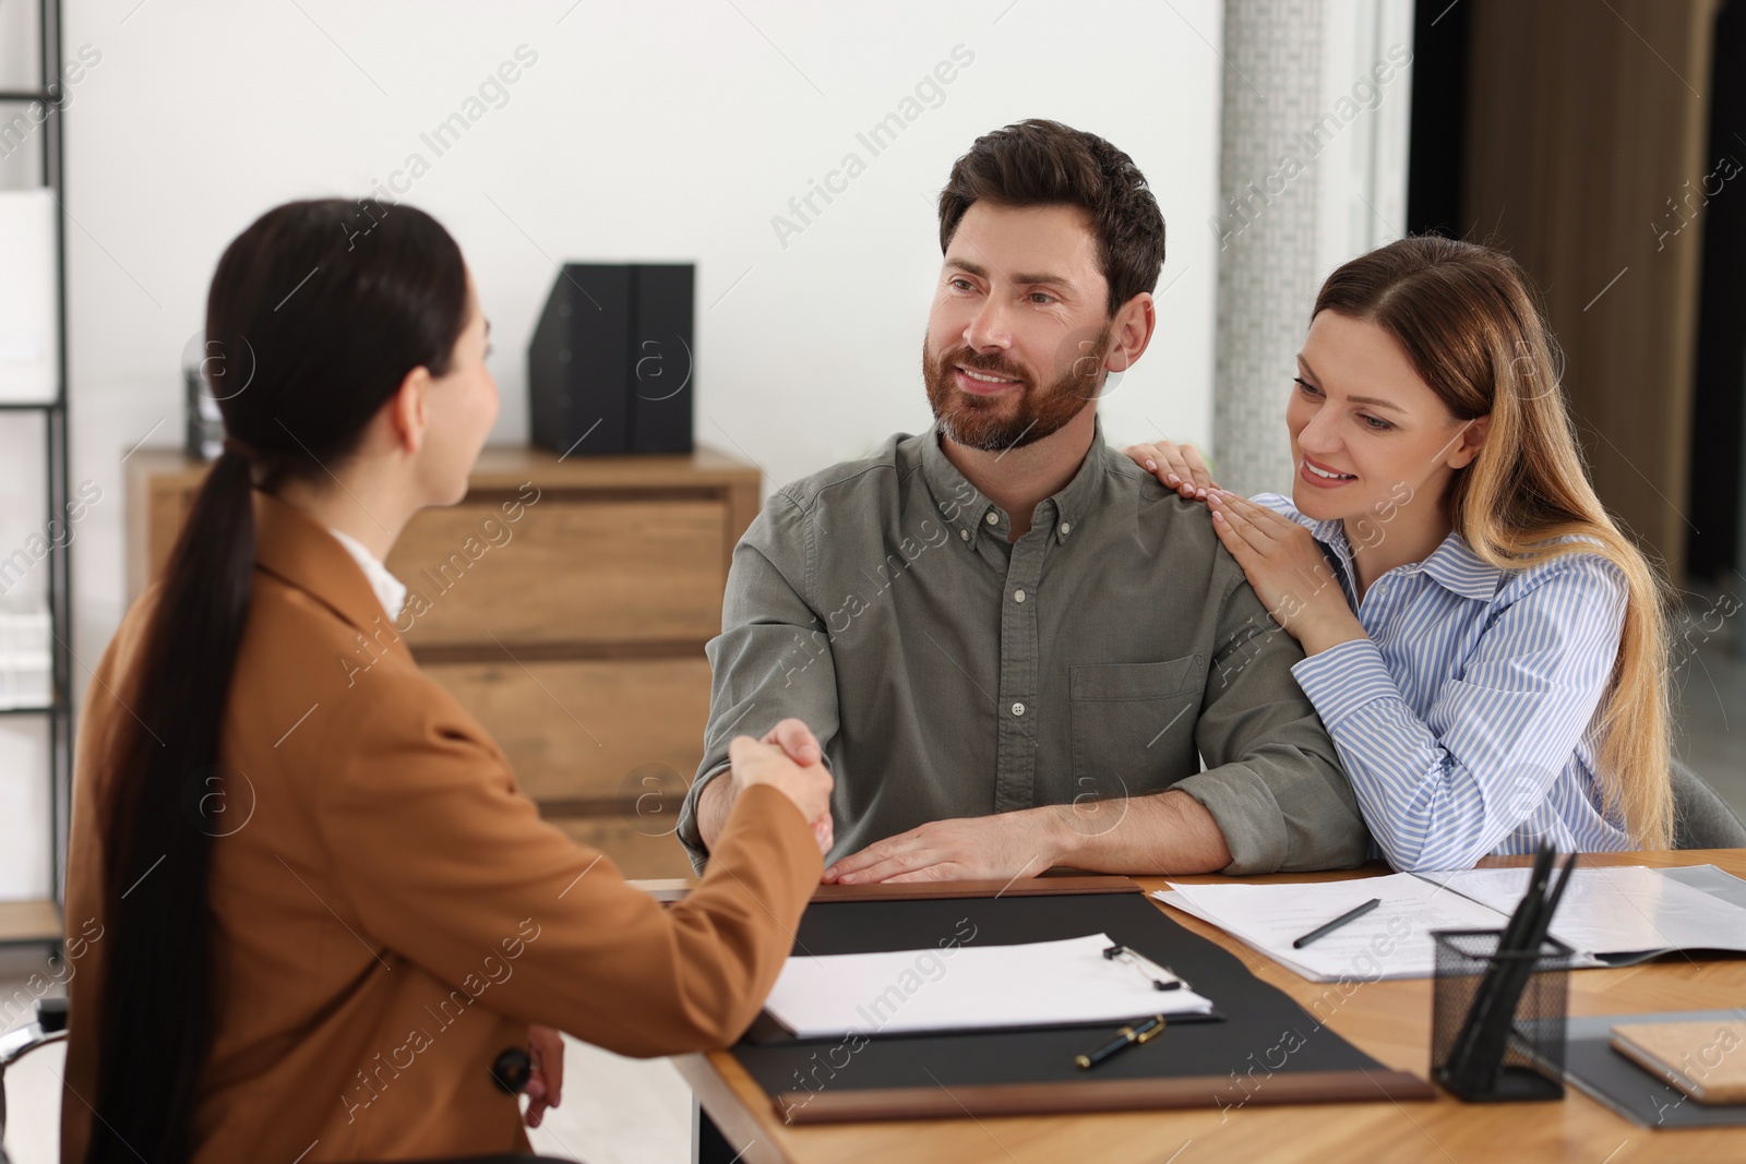
[[[1432,930],[1496,928],[1496,911],[1411,873],[1304,885],[1177,885],[1166,906],[1217,925],[1315,983],[1430,977]],[[1372,897],[1381,906],[1301,949],[1292,942]]]

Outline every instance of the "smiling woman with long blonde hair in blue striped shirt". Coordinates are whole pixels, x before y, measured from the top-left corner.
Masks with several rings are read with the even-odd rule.
[[[1128,455],[1213,529],[1397,869],[1667,848],[1660,590],[1589,483],[1550,335],[1500,251],[1402,239],[1316,297],[1285,410],[1292,497],[1193,447]]]

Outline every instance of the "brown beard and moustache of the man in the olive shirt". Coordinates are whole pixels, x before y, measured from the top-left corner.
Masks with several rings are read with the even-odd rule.
[[[1091,351],[1077,356],[1044,389],[1037,389],[1030,377],[1007,366],[1000,356],[978,356],[969,347],[959,346],[932,359],[924,335],[922,379],[927,380],[927,403],[934,408],[939,431],[953,443],[981,452],[1021,448],[1058,433],[1096,400],[1109,335],[1110,326],[1105,325],[1091,342]],[[960,365],[1016,380],[1018,389],[999,396],[973,396],[957,386],[955,368]],[[1084,368],[1090,368],[1090,375],[1081,373]]]

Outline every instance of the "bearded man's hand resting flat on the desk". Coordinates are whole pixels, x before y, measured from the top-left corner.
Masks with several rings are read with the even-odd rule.
[[[932,820],[868,845],[824,871],[824,881],[974,881],[1039,874],[1055,860],[1056,829],[1044,813]]]

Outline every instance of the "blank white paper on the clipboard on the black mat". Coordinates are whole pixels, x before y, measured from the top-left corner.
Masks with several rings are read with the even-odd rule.
[[[796,1038],[1124,1023],[1212,1010],[1191,988],[1156,989],[1144,970],[1105,958],[1114,944],[1107,934],[1088,934],[1020,946],[796,955],[765,1009]]]

